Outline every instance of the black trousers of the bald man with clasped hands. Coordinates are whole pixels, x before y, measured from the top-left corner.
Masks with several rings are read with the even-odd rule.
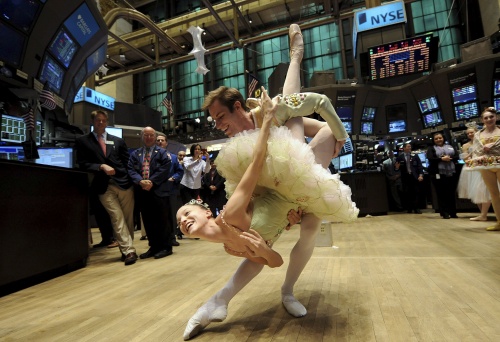
[[[137,189],[139,210],[153,253],[172,250],[173,231],[169,197],[157,196],[152,191]]]

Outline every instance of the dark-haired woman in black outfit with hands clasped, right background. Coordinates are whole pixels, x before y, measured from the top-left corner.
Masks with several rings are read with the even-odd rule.
[[[458,161],[458,152],[453,146],[445,144],[442,133],[435,133],[433,140],[434,146],[427,149],[428,172],[436,188],[439,213],[444,219],[457,218],[455,207],[457,173],[455,166]]]

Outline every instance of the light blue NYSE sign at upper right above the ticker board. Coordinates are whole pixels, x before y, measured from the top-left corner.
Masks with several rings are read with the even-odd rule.
[[[403,1],[390,2],[382,6],[355,12],[354,18],[358,32],[405,23],[405,4]]]

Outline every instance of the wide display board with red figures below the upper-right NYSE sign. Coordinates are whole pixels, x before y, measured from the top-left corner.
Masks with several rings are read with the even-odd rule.
[[[430,71],[437,62],[437,43],[429,34],[368,48],[370,80]]]

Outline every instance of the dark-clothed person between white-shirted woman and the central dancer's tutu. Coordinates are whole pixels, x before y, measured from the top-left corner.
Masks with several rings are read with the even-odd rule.
[[[212,215],[217,217],[218,212],[226,204],[226,191],[224,182],[226,180],[217,172],[217,165],[210,160],[210,171],[201,179],[202,198],[210,207]]]

